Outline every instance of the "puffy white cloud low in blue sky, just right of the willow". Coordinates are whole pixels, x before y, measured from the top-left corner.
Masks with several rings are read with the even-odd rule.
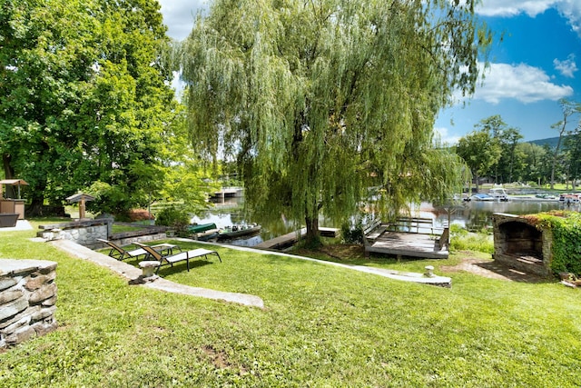
[[[480,68],[483,69],[483,65]],[[474,99],[498,104],[504,99],[515,99],[521,103],[557,101],[573,95],[568,85],[556,85],[543,69],[530,65],[490,64],[485,70],[484,85],[477,88]]]

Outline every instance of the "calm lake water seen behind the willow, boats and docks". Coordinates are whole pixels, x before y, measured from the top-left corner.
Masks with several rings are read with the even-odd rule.
[[[241,246],[254,246],[263,241],[287,234],[295,230],[295,226],[281,216],[275,223],[267,224],[261,220],[253,218],[251,215],[241,213],[241,198],[227,198],[225,202],[216,204],[212,210],[202,216],[192,218],[192,223],[207,224],[214,223],[217,227],[225,227],[231,224],[257,223],[262,225],[261,234],[242,236],[229,241],[230,244]],[[448,209],[437,208],[431,204],[420,204],[413,210],[413,216],[433,218],[437,226],[448,224]],[[512,199],[508,202],[482,202],[470,201],[461,202],[451,208],[449,212],[450,224],[459,224],[468,231],[477,232],[483,228],[492,227],[492,214],[536,214],[555,209],[569,209],[579,211],[579,205],[561,204],[558,201],[536,200],[534,198]],[[337,227],[336,225],[320,223],[321,226]]]

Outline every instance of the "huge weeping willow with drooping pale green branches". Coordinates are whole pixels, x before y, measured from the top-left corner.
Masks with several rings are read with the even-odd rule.
[[[182,45],[192,139],[232,157],[255,212],[319,241],[370,186],[383,215],[461,183],[433,146],[438,110],[469,95],[490,42],[475,0],[215,0]]]

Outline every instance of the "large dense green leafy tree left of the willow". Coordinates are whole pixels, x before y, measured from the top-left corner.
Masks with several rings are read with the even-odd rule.
[[[38,209],[93,186],[90,205],[146,204],[175,107],[153,0],[7,0],[0,8],[0,152]]]

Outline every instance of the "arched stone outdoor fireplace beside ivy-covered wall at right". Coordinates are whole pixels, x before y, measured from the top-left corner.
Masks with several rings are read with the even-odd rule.
[[[515,214],[495,213],[494,260],[528,274],[548,277],[553,258],[553,234],[537,229],[527,218]]]

